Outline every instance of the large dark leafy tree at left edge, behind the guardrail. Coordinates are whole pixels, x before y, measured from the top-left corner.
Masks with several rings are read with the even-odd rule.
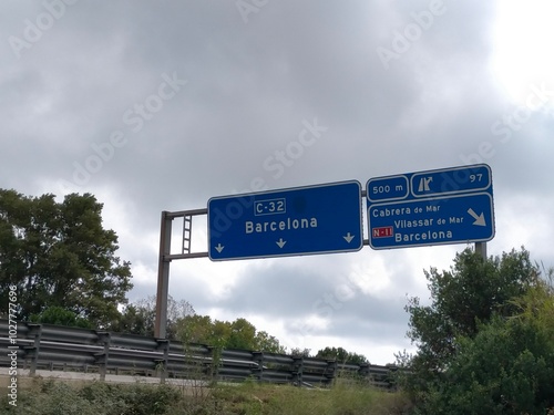
[[[102,226],[90,194],[27,197],[0,189],[0,302],[16,286],[19,318],[61,307],[106,326],[132,288],[130,263],[115,256],[117,236]]]

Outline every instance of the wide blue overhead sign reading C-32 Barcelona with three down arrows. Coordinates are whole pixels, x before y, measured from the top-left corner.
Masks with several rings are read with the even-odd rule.
[[[343,181],[208,200],[212,260],[350,252],[363,246],[361,185]]]

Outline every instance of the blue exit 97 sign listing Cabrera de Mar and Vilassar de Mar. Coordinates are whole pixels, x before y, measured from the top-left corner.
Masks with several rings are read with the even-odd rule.
[[[494,237],[492,175],[485,164],[372,178],[367,199],[373,249]]]

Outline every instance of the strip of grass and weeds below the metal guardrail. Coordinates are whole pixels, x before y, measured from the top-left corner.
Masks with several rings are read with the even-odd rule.
[[[384,415],[403,414],[408,398],[339,382],[328,390],[244,382],[189,387],[35,378],[18,406],[0,396],[0,413],[25,415]]]

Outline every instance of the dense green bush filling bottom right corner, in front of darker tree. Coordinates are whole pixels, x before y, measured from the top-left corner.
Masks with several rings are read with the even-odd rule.
[[[513,301],[520,312],[495,314],[459,349],[433,385],[428,413],[546,414],[554,408],[554,293],[542,281]]]

